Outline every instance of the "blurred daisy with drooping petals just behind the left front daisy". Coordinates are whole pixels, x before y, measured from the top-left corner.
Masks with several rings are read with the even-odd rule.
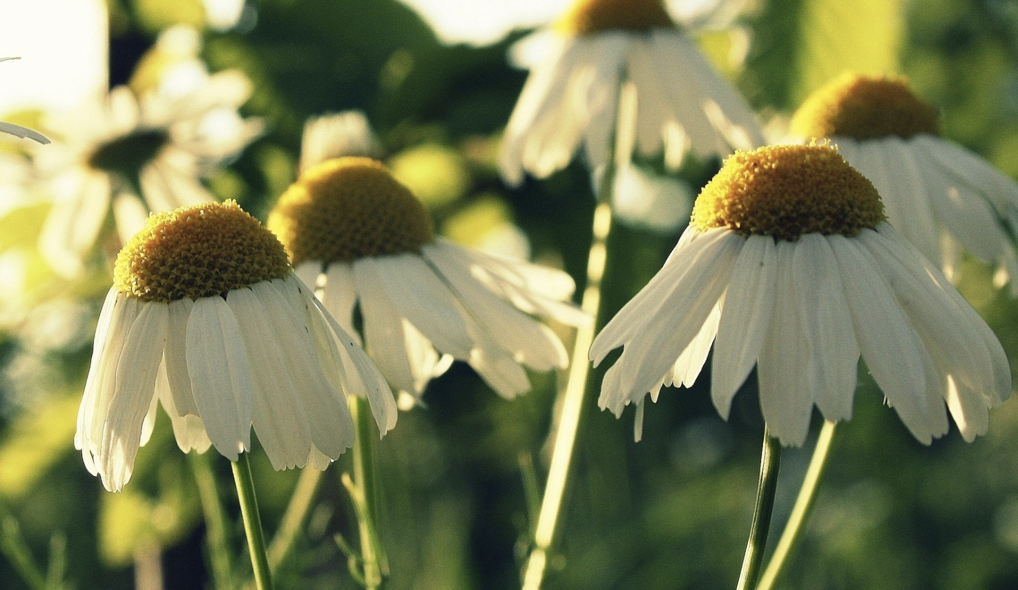
[[[418,397],[452,361],[467,362],[506,397],[530,388],[522,367],[565,367],[559,338],[528,314],[577,325],[564,272],[496,258],[434,235],[423,205],[370,158],[305,171],[268,227],[323,305],[354,333],[394,388]],[[522,367],[521,367],[522,365]]]

